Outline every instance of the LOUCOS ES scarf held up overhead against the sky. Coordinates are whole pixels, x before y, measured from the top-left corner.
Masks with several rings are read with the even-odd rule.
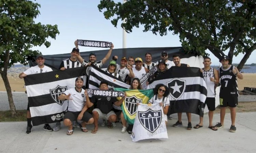
[[[107,42],[107,41],[77,39],[77,45],[79,46],[110,48],[111,44],[112,44],[111,42]]]

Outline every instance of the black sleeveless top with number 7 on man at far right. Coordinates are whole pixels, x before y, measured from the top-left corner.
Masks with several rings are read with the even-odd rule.
[[[229,95],[238,96],[237,76],[232,72],[233,69],[233,65],[230,65],[226,70],[224,70],[223,67],[219,68],[219,78],[221,79],[220,98]]]

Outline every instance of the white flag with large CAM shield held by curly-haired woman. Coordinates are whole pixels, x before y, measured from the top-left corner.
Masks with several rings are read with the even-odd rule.
[[[139,104],[131,138],[133,142],[168,138],[163,110],[159,103]]]

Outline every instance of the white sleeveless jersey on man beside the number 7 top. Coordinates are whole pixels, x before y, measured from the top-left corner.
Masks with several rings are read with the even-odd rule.
[[[214,69],[212,67],[208,71],[203,69],[203,78],[207,86],[207,97],[215,97],[215,84],[210,80],[214,78]]]

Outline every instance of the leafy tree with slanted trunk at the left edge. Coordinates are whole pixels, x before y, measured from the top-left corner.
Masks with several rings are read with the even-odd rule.
[[[11,115],[16,115],[12,98],[12,90],[7,78],[7,69],[14,63],[26,64],[26,57],[37,55],[33,46],[51,43],[46,38],[54,38],[59,34],[57,25],[46,26],[33,21],[40,12],[40,4],[29,0],[0,0],[0,74],[3,79],[11,109]]]

